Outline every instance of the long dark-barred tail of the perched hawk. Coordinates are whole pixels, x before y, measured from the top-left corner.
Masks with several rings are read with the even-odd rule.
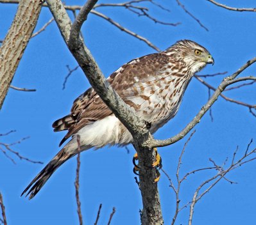
[[[57,155],[55,155],[55,157],[46,165],[46,167],[44,167],[44,169],[42,169],[40,173],[38,173],[38,175],[31,181],[28,187],[26,187],[26,189],[22,192],[21,196],[30,189],[26,196],[30,194],[29,199],[34,198],[38,191],[42,189],[44,184],[51,177],[51,175],[53,175],[56,169],[58,169],[58,167],[64,164],[65,161],[71,159],[78,153],[77,148],[73,151],[67,151],[67,146],[68,144],[62,148],[62,150],[60,150]],[[89,148],[90,147],[87,146],[87,148],[83,148],[83,151],[88,150]]]

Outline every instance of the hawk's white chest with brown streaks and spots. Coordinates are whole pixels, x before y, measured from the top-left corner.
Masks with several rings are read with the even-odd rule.
[[[151,132],[155,132],[177,113],[187,82],[182,76],[167,75],[141,86],[141,93],[134,99],[137,113],[151,123]]]

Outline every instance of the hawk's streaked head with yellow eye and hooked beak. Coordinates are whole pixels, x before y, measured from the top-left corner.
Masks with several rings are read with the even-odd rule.
[[[193,74],[207,64],[214,65],[214,59],[210,55],[210,52],[191,40],[180,40],[167,49],[167,51],[172,52],[178,61],[183,61],[183,63],[189,66]]]

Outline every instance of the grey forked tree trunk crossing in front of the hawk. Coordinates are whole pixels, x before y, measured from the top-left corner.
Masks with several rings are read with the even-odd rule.
[[[47,4],[53,13],[53,17],[55,17],[55,21],[69,50],[71,50],[81,69],[87,75],[92,88],[95,89],[103,102],[108,105],[133,136],[134,146],[138,152],[139,165],[141,167],[139,173],[141,174],[140,185],[144,206],[142,224],[162,224],[157,183],[154,183],[157,177],[156,169],[151,166],[155,161],[155,151],[149,148],[153,137],[149,134],[146,123],[141,121],[133,109],[123,102],[112,86],[106,81],[90,51],[79,38],[81,24],[85,21],[87,14],[95,3],[95,0],[88,1],[78,14],[78,19],[74,21],[74,26],[71,27],[71,21],[67,12],[65,12],[63,4],[59,0],[47,0]]]

